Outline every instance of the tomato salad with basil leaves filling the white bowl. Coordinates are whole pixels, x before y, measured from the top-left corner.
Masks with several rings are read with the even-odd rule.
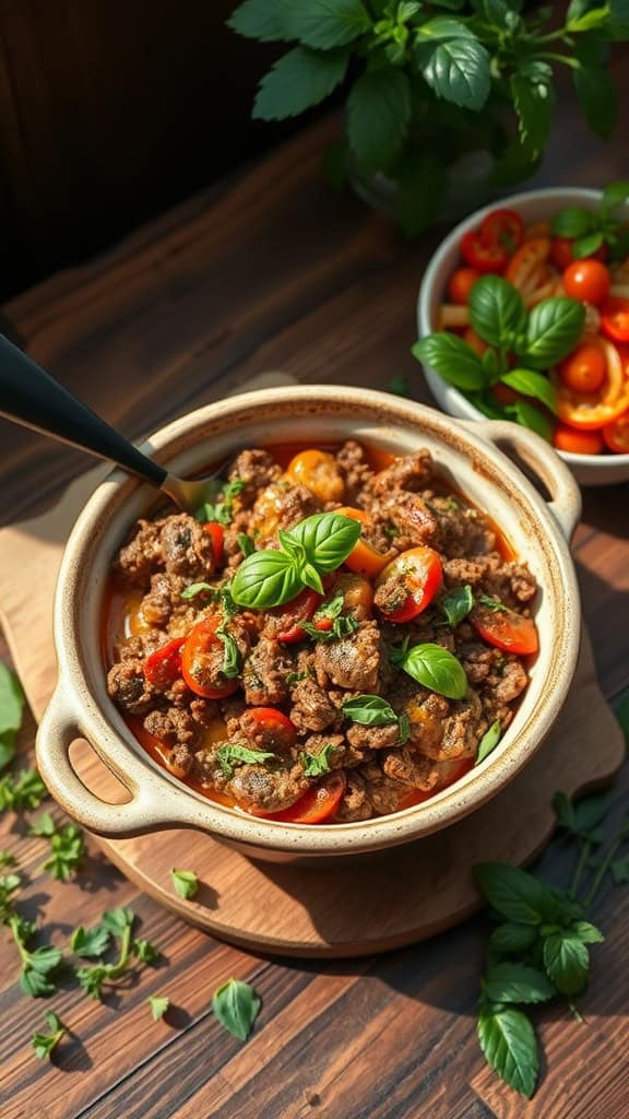
[[[490,419],[560,451],[629,453],[629,182],[525,226],[495,209],[460,243],[440,330],[413,352]]]

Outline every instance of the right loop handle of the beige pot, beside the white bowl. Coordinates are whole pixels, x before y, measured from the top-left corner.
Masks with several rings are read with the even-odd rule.
[[[528,427],[503,420],[468,420],[466,426],[494,443],[499,451],[516,454],[544,483],[551,513],[566,540],[572,539],[581,516],[581,490],[571,471],[548,443]]]

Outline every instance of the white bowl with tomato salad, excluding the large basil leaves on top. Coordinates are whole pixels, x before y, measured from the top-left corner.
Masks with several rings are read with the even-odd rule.
[[[539,360],[534,365],[536,375],[547,379],[550,396],[543,384],[534,382],[544,399],[500,383],[495,370],[494,384],[482,394],[464,391],[444,379],[426,360],[425,350],[417,356],[445,412],[462,420],[489,416],[533,426],[585,486],[629,480],[629,248],[621,245],[629,205],[620,201],[610,207],[605,227],[604,216],[597,216],[602,198],[600,190],[548,188],[476,210],[432,256],[417,300],[419,350],[429,336],[445,330],[481,359],[487,342],[473,329],[470,313],[470,293],[479,279],[506,280],[529,314],[545,300],[569,297],[583,304],[583,327],[569,352],[546,368]],[[584,211],[592,215],[590,232]],[[557,223],[562,231],[584,232],[580,238],[563,237],[555,232]],[[612,241],[617,237],[617,244],[608,244],[601,231],[609,232]],[[579,251],[589,248],[591,255],[575,260],[579,239]],[[514,370],[522,365],[528,365],[522,352],[517,357],[506,352],[506,380],[519,389],[526,383]]]

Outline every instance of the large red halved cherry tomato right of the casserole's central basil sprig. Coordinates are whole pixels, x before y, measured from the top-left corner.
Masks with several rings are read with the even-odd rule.
[[[420,545],[402,552],[386,565],[376,580],[376,605],[389,622],[409,622],[430,605],[441,587],[441,560],[433,548]],[[383,605],[377,591],[391,586]]]

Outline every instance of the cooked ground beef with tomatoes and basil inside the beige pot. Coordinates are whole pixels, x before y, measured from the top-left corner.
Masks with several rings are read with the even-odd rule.
[[[224,805],[365,820],[490,752],[537,650],[535,592],[425,450],[245,450],[215,506],[140,520],[118,553],[109,694]]]

